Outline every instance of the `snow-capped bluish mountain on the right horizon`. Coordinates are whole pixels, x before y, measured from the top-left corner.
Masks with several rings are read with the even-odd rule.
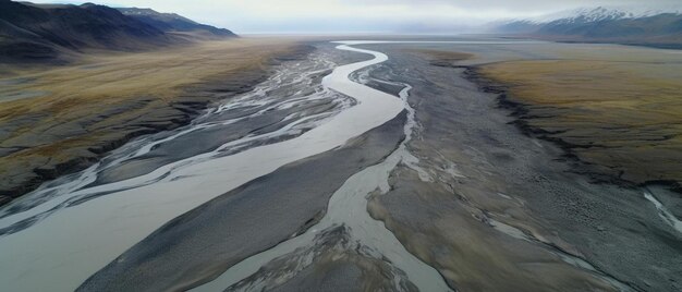
[[[497,25],[494,32],[559,41],[682,48],[682,14],[679,10],[628,11],[599,7],[510,21]]]

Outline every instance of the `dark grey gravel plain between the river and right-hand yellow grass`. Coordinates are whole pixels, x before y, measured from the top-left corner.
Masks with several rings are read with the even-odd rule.
[[[394,190],[370,211],[453,288],[584,291],[608,278],[634,290],[682,289],[682,234],[661,220],[645,190],[573,173],[559,147],[509,124],[497,96],[480,93],[463,69],[429,65],[400,45],[365,47],[391,57],[393,74],[378,78],[414,86],[422,127],[410,146],[435,180],[399,168]],[[601,272],[565,264],[564,253]]]

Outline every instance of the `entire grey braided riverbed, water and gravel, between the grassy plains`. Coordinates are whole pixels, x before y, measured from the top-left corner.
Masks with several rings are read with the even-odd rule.
[[[471,75],[574,52],[672,52],[446,40],[310,41],[305,58],[283,60],[188,125],[42,184],[0,209],[0,282],[13,291],[681,290],[679,193],[586,175],[584,161],[524,132],[501,92]],[[514,83],[540,88],[524,78],[534,66],[516,69]],[[565,88],[544,94],[556,90]]]

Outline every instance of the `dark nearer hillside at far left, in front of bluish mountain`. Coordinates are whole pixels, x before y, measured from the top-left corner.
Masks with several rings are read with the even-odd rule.
[[[135,50],[170,44],[160,29],[95,4],[40,8],[0,0],[0,61],[57,58],[83,48]]]

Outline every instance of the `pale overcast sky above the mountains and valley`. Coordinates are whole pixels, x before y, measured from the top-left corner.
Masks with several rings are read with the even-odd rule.
[[[38,0],[34,2],[70,2]],[[682,0],[90,0],[151,8],[236,33],[465,33],[501,19],[525,19],[598,5],[649,8]]]

